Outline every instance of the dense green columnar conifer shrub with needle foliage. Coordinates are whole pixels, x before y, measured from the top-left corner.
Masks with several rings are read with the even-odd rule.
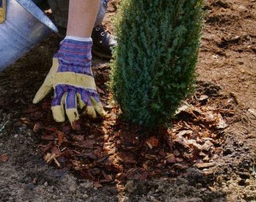
[[[195,82],[203,0],[121,0],[111,88],[124,118],[166,124]]]

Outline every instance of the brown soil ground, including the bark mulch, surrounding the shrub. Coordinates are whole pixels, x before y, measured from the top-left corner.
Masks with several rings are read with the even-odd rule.
[[[116,2],[104,20],[111,31]],[[0,201],[256,201],[255,6],[207,0],[196,91],[170,130],[122,122],[109,100],[109,62],[96,57],[108,118],[83,117],[73,132],[52,121],[50,96],[32,105],[61,40],[55,34],[1,72]],[[47,164],[63,144],[61,168]]]

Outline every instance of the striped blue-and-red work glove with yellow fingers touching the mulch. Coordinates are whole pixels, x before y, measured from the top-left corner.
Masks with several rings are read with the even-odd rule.
[[[53,117],[56,122],[63,122],[66,111],[73,129],[73,123],[79,119],[78,105],[80,108],[86,107],[85,113],[92,118],[96,118],[96,112],[101,116],[106,115],[91,72],[91,46],[91,38],[89,41],[65,38],[53,58],[44,84],[33,100],[33,103],[38,103],[54,88],[55,98],[51,104]]]

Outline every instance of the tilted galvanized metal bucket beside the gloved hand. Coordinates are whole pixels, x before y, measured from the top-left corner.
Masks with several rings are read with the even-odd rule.
[[[51,32],[58,32],[56,26],[32,1],[8,0],[6,19],[0,24],[0,71]]]

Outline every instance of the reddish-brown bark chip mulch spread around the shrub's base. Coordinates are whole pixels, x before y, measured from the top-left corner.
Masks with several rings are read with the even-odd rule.
[[[149,131],[127,124],[119,118],[119,107],[108,105],[107,118],[82,116],[79,130],[74,131],[68,122],[55,123],[50,99],[31,105],[21,121],[38,137],[45,163],[90,179],[97,188],[105,183],[177,176],[192,166],[204,170],[215,165],[222,153],[224,130],[234,116],[231,101],[218,105],[218,89],[212,92],[212,87],[199,86],[177,110],[168,129]]]

